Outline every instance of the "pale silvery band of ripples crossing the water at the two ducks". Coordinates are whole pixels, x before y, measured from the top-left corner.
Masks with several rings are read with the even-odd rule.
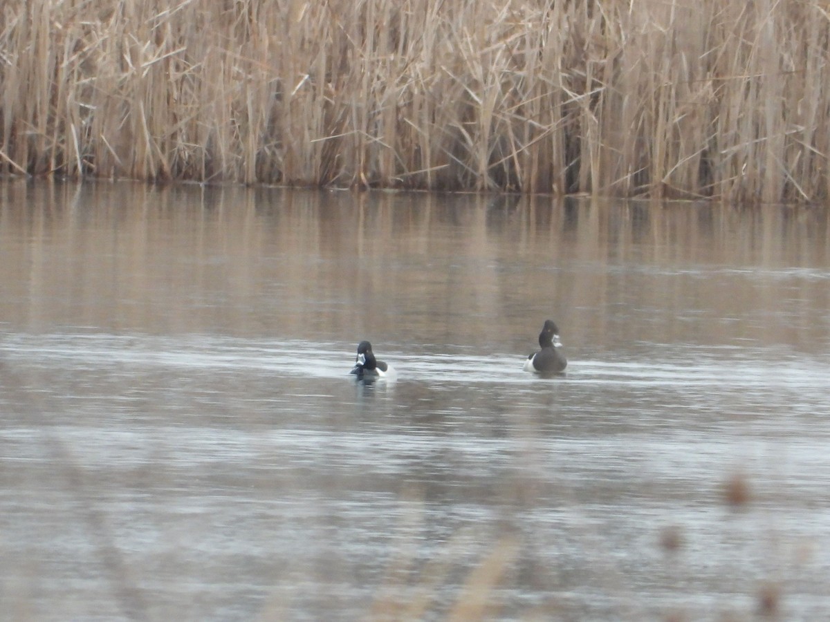
[[[349,378],[354,364],[351,344],[319,344],[296,340],[237,339],[189,335],[159,338],[141,335],[56,333],[17,334],[0,342],[0,356],[30,366],[71,366],[76,370],[110,366],[170,367],[180,371],[251,370],[287,377]],[[609,362],[572,355],[562,375],[540,378],[523,372],[518,353],[479,356],[468,353],[426,353],[413,356],[383,352],[399,380],[500,383],[567,381],[632,386],[787,386],[814,390],[826,385],[830,364],[815,357],[780,357],[780,352],[735,347],[710,350],[657,346],[648,360],[635,357]],[[740,352],[739,352],[740,350]],[[326,352],[321,356],[320,352]]]

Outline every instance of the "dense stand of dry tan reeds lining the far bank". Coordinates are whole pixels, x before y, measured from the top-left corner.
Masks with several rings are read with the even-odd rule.
[[[0,173],[808,202],[818,0],[7,0]]]

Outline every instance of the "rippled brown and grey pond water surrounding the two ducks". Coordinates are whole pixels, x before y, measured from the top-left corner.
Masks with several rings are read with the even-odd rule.
[[[9,183],[0,618],[823,619],[828,232]],[[521,372],[545,318],[563,377]]]

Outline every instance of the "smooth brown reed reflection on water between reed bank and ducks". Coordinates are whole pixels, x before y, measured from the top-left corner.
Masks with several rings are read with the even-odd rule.
[[[827,331],[830,224],[808,207],[134,183],[0,201],[4,314],[33,327],[485,352],[548,316],[587,348],[681,338],[679,317],[704,343]]]

